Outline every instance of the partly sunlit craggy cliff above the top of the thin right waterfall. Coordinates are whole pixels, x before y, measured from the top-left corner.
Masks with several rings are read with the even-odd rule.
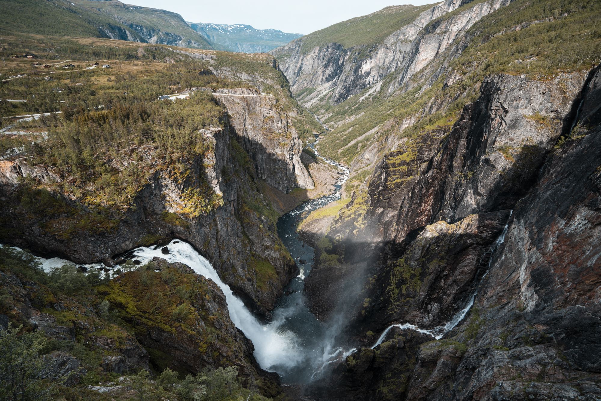
[[[587,75],[556,82],[511,75],[485,79],[480,99],[451,129],[400,140],[377,164],[367,191],[357,191],[332,226],[373,254],[398,255],[427,225],[469,214],[511,210],[525,196],[563,130]],[[566,83],[565,89],[556,83]],[[576,105],[576,107],[578,107]],[[353,207],[363,204],[359,218]],[[365,254],[365,252],[358,252]]]

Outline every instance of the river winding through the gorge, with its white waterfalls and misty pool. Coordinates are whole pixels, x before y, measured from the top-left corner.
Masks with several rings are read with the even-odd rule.
[[[317,143],[319,143],[319,140],[311,144],[311,148],[314,149]],[[290,251],[290,255],[296,261],[299,267],[299,275],[293,278],[290,284],[285,287],[284,296],[276,302],[270,322],[264,323],[256,319],[249,309],[246,308],[242,300],[233,294],[227,284],[221,281],[221,278],[219,278],[219,275],[209,261],[201,256],[191,244],[185,241],[172,240],[168,244],[168,255],[162,253],[161,249],[163,246],[158,245],[138,247],[123,255],[123,258],[127,259],[136,258],[142,264],[148,263],[155,256],[164,258],[171,263],[185,263],[199,275],[215,281],[225,294],[232,322],[244,332],[246,337],[252,340],[255,347],[254,356],[258,364],[265,370],[278,373],[282,384],[306,384],[312,379],[319,377],[328,364],[338,359],[346,358],[347,355],[355,351],[353,344],[335,343],[335,339],[340,334],[344,325],[337,323],[336,319],[332,319],[332,323],[329,324],[320,322],[309,311],[303,293],[305,279],[310,275],[314,264],[314,250],[303,243],[299,237],[299,232],[297,232],[297,227],[311,211],[340,199],[342,185],[349,178],[349,169],[347,167],[323,158],[317,152],[316,154],[325,163],[332,164],[337,169],[340,169],[342,174],[340,179],[335,182],[331,194],[304,202],[294,208],[294,210],[284,214],[278,220],[278,235],[284,246]],[[507,227],[498,240],[495,241],[493,247],[491,247],[491,259],[492,253],[498,247],[498,244],[502,242],[506,231]],[[61,266],[64,263],[70,263],[59,258],[50,260],[40,258],[40,261],[46,271],[53,267]],[[93,267],[97,266],[88,265],[88,268]],[[452,329],[466,315],[474,302],[475,290],[474,288],[474,292],[467,305],[465,305],[465,308],[457,312],[456,316],[447,325],[429,331],[407,323],[394,323],[380,335],[380,338],[373,344],[372,348],[382,343],[386,334],[393,327],[415,329],[430,334],[435,338],[441,338],[444,332]]]

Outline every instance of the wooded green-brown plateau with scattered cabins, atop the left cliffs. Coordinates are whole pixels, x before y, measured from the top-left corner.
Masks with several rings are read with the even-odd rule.
[[[262,83],[260,89],[273,93],[284,109],[300,111],[294,126],[302,137],[313,136],[311,127],[316,123],[308,117],[310,114],[305,115],[298,109],[285,78],[269,64],[272,58],[265,55],[217,52],[213,55],[213,68],[227,72],[221,75],[224,78],[219,78],[209,69],[212,65],[209,60],[197,60],[193,57],[195,54],[175,53],[174,48],[166,46],[147,46],[144,52],[139,52],[137,48],[90,46],[73,41],[59,44],[53,52],[59,57],[82,59],[100,54],[123,61],[111,61],[114,63],[111,70],[85,70],[81,69],[85,63],[78,64],[75,68],[79,70],[58,70],[50,81],[41,79],[48,70],[32,71],[17,67],[17,62],[13,62],[14,67],[4,70],[5,76],[21,71],[27,71],[28,76],[2,84],[2,115],[56,111],[61,114],[17,123],[14,129],[29,134],[4,135],[0,139],[0,152],[6,155],[19,148],[16,153],[29,157],[31,163],[51,166],[59,176],[72,177],[72,182],[56,182],[50,187],[73,193],[88,207],[99,207],[100,212],[106,208],[117,213],[117,217],[120,211],[132,207],[151,170],[172,169],[183,179],[194,158],[210,149],[198,130],[224,126],[224,111],[210,93],[195,92],[191,99],[176,102],[158,101],[159,95],[187,87],[253,87],[257,82],[252,76],[261,76],[273,84]],[[106,43],[111,44],[114,45]],[[30,49],[47,46],[36,44],[34,40],[9,42],[8,45],[11,51],[18,49],[17,46]],[[177,57],[177,62],[159,62],[165,55]],[[61,67],[58,65],[55,69]],[[4,99],[25,99],[27,102]],[[4,119],[2,123],[6,126],[11,120]],[[47,137],[43,139],[40,131],[48,131]],[[31,140],[35,142],[31,144]],[[126,160],[130,157],[135,163]],[[210,188],[198,188],[189,194],[185,201],[188,207],[182,212],[188,216],[207,213],[215,202],[218,199]]]

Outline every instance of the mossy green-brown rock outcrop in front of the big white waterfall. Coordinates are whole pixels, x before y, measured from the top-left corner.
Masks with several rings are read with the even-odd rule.
[[[169,294],[171,288],[175,293]],[[264,376],[258,373],[251,341],[230,320],[224,293],[185,264],[154,258],[148,266],[121,274],[99,291],[150,350],[156,370],[169,367],[196,374],[204,367],[236,365],[251,382]],[[127,368],[125,362],[107,357],[102,365],[119,373]]]

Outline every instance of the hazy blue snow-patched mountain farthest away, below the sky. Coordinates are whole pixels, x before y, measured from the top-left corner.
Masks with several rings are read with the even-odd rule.
[[[303,36],[303,34],[284,33],[278,30],[257,30],[242,23],[236,25],[187,23],[214,48],[232,52],[264,53]]]

